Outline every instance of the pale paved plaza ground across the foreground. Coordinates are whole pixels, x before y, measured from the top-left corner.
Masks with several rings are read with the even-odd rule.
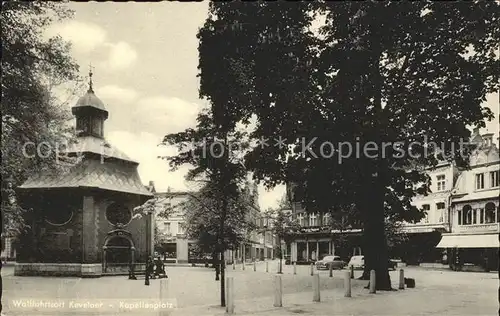
[[[353,280],[352,297],[343,297],[344,271],[319,271],[321,302],[312,302],[312,279],[308,266],[284,266],[283,308],[273,307],[273,277],[277,261],[241,265],[228,276],[234,277],[235,314],[237,315],[497,315],[498,275],[449,270],[405,268],[408,277],[416,279],[416,288],[404,291],[369,294],[366,281]],[[168,267],[169,279],[164,285],[169,308],[160,314],[143,306],[160,298],[160,280],[128,280],[125,276],[99,279],[17,277],[13,267],[2,269],[2,304],[5,315],[223,315],[218,307],[219,283],[214,270],[204,267]],[[360,275],[356,271],[356,276]],[[398,271],[391,272],[397,288]],[[31,300],[31,301],[30,301]],[[64,302],[65,306],[36,307],[35,301]],[[69,306],[73,301],[73,306]],[[32,303],[30,303],[32,302]],[[121,303],[120,303],[121,302]],[[137,305],[143,302],[143,305]],[[146,302],[146,303],[144,303]],[[24,307],[20,306],[24,303]],[[90,303],[103,306],[78,305]],[[127,305],[128,303],[128,305]],[[133,305],[132,303],[136,303]],[[18,304],[18,306],[14,306]],[[31,305],[30,305],[31,304]],[[119,306],[119,305],[122,306]]]

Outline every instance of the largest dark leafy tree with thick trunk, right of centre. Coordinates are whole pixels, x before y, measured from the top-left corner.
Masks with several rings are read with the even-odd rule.
[[[308,211],[356,205],[365,275],[390,289],[386,214],[418,220],[411,200],[429,192],[413,167],[435,166],[437,146],[466,165],[467,127],[492,118],[481,104],[499,87],[499,12],[494,1],[211,3],[200,90],[227,119],[255,115],[253,138],[286,139],[246,155],[267,185],[303,183]]]

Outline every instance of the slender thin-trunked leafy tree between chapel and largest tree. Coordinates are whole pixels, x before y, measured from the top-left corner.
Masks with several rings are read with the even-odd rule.
[[[248,148],[245,134],[236,130],[236,123],[227,118],[224,101],[211,98],[211,106],[198,115],[196,129],[187,129],[166,135],[163,143],[176,145],[179,153],[165,157],[175,170],[183,164],[193,168],[187,179],[204,183],[198,194],[193,195],[192,207],[186,211],[204,209],[199,212],[203,222],[189,216],[190,226],[198,232],[207,232],[215,238],[214,254],[220,254],[221,306],[225,306],[224,251],[239,238],[239,225],[245,225],[246,207],[242,202],[242,186],[247,170],[241,155]],[[198,206],[196,206],[198,205]],[[202,226],[203,225],[203,226]],[[217,276],[217,275],[216,275]]]

